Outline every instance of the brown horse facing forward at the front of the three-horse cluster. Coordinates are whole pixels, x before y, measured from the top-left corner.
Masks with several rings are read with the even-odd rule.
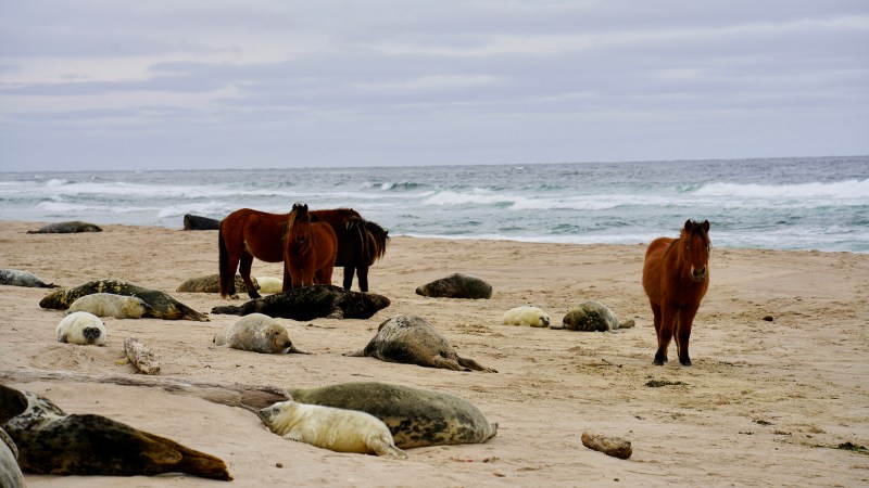
[[[332,284],[337,252],[338,237],[331,224],[312,222],[307,205],[293,205],[284,233],[284,291]]]

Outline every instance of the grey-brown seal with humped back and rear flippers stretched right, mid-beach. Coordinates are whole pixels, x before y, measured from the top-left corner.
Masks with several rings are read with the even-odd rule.
[[[377,328],[377,334],[364,349],[344,356],[371,357],[426,368],[498,373],[473,359],[459,357],[450,342],[418,316],[395,316],[387,320]]]

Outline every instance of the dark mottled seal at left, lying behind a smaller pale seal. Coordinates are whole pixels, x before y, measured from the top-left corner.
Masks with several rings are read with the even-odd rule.
[[[137,296],[150,305],[153,310],[149,310],[142,317],[164,320],[197,320],[207,322],[209,316],[200,313],[192,308],[181,304],[169,294],[158,290],[143,288],[133,283],[118,280],[89,281],[83,285],[72,288],[58,290],[39,301],[39,306],[52,310],[66,310],[73,301],[85,295],[95,293],[113,293],[115,295]]]

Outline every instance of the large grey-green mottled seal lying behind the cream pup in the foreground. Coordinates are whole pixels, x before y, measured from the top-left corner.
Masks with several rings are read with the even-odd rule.
[[[498,423],[489,422],[474,403],[443,391],[360,382],[287,393],[300,403],[370,413],[387,424],[401,449],[481,444],[498,433]]]

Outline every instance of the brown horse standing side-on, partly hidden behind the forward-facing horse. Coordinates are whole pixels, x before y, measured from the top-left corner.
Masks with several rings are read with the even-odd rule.
[[[349,219],[362,218],[352,208],[336,208],[328,210],[311,210],[314,220],[324,222],[343,222]],[[234,277],[236,270],[244,280],[248,295],[260,298],[251,281],[251,266],[253,258],[266,262],[284,261],[284,232],[290,214],[268,214],[265,211],[241,208],[229,214],[221,221],[217,232],[217,248],[219,252],[221,296],[238,298]],[[289,283],[286,274],[285,283]]]

